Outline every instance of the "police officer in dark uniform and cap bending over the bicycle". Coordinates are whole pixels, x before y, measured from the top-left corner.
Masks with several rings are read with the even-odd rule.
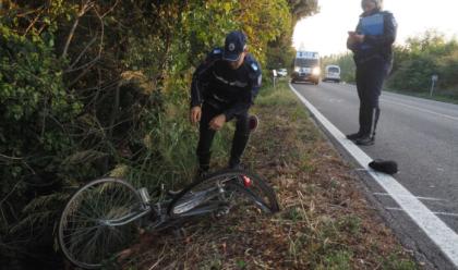
[[[246,36],[234,30],[225,48],[213,49],[195,71],[191,85],[193,124],[200,122],[198,174],[209,169],[210,146],[216,131],[237,121],[229,168],[238,168],[250,136],[248,111],[261,87],[261,68],[248,53]]]

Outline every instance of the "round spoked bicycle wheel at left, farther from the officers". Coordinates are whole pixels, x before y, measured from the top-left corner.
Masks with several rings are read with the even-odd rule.
[[[94,269],[129,247],[144,212],[138,193],[117,179],[96,180],[67,202],[59,222],[59,245],[74,265]]]

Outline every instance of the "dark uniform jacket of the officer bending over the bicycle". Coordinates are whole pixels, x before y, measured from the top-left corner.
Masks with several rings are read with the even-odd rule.
[[[208,103],[229,121],[253,105],[261,81],[260,64],[251,54],[245,56],[239,69],[232,70],[229,62],[222,60],[222,49],[216,48],[193,75],[191,107]]]

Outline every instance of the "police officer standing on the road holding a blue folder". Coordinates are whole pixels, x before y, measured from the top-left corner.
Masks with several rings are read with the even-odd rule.
[[[378,97],[393,63],[391,46],[397,23],[391,13],[382,11],[382,0],[363,0],[363,13],[355,32],[349,32],[347,47],[357,64],[357,88],[360,98],[360,130],[347,135],[357,145],[373,145],[381,110]]]

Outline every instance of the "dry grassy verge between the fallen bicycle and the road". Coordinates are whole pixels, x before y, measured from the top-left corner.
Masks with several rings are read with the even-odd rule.
[[[277,192],[275,216],[239,209],[150,235],[125,269],[417,269],[349,168],[281,83],[265,88],[245,160]]]

